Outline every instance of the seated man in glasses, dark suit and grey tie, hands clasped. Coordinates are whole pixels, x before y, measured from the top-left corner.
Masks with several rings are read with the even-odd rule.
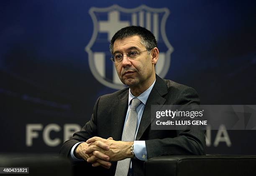
[[[204,154],[203,130],[151,130],[151,105],[200,103],[191,87],[156,75],[154,35],[143,27],[125,27],[113,36],[110,52],[128,88],[97,99],[90,121],[63,144],[61,156],[91,163],[94,171],[105,168],[105,175],[141,176],[147,159]]]

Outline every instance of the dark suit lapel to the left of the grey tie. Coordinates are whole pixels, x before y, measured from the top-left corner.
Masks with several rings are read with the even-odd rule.
[[[115,107],[112,109],[111,116],[111,134],[115,141],[120,141],[123,134],[123,124],[128,109],[128,90],[121,93],[115,101]]]

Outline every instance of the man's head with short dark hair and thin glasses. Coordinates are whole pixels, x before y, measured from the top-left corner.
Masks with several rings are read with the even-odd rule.
[[[120,80],[131,89],[145,91],[154,82],[159,51],[150,31],[138,26],[119,30],[111,40],[110,52]]]

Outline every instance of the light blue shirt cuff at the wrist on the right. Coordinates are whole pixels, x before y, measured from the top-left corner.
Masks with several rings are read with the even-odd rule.
[[[134,141],[133,149],[134,155],[137,159],[140,159],[142,161],[146,161],[148,159],[145,141]]]

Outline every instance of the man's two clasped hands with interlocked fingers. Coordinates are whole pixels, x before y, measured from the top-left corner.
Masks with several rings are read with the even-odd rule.
[[[112,137],[103,139],[92,137],[86,142],[80,143],[75,153],[79,158],[83,158],[93,167],[102,166],[106,169],[111,167],[110,161],[120,161],[126,158],[133,158],[131,146],[133,141],[115,141]]]

